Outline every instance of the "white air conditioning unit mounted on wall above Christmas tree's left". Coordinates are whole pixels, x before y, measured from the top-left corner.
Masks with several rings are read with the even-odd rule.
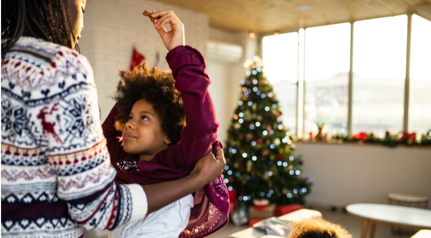
[[[209,41],[206,43],[206,56],[210,60],[236,63],[242,59],[242,47],[232,43]]]

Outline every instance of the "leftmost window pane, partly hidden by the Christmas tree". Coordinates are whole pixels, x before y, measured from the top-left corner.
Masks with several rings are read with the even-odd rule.
[[[265,76],[279,101],[283,124],[296,133],[298,32],[263,37],[262,60]]]

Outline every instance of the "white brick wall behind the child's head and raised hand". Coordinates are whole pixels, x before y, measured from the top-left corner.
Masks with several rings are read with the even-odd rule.
[[[159,66],[168,69],[167,50],[153,24],[142,16],[143,10],[153,9],[172,9],[186,26],[186,44],[205,56],[209,24],[204,14],[146,0],[88,1],[79,45],[94,70],[102,120],[114,105],[110,96],[118,82],[118,70],[129,67],[133,44],[150,65],[159,52]]]

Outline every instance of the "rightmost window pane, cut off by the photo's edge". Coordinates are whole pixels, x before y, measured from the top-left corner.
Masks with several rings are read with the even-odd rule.
[[[431,129],[431,21],[412,16],[409,131]]]

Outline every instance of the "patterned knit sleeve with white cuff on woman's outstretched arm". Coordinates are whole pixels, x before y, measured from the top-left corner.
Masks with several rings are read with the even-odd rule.
[[[27,113],[70,217],[86,229],[114,229],[145,217],[147,197],[140,185],[114,183],[93,72],[85,57],[76,58],[67,64],[57,60],[46,70],[56,74],[60,89],[32,92],[43,100],[29,100]]]

